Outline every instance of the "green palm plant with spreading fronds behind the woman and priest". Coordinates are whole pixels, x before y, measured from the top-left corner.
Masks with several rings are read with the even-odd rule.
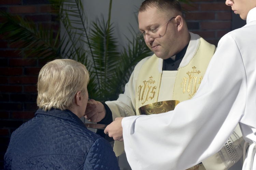
[[[37,28],[32,21],[6,12],[1,12],[6,20],[0,25],[0,34],[12,43],[19,43],[24,57],[70,58],[82,62],[90,73],[89,97],[102,102],[116,99],[123,92],[133,66],[150,56],[151,51],[136,36],[128,41],[126,48],[118,51],[110,22],[112,0],[108,20],[96,19],[91,28],[82,0],[49,1],[66,30],[64,35],[60,36],[60,29],[54,32],[52,27],[45,29],[42,24]],[[136,31],[131,31],[136,35]]]

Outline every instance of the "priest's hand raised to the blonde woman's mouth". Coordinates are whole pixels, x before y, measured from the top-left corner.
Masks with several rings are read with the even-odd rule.
[[[105,118],[106,109],[104,105],[94,99],[90,99],[85,110],[85,119],[90,122],[99,122]]]

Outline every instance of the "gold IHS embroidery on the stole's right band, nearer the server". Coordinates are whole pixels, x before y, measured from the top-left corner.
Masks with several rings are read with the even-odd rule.
[[[185,93],[187,92],[189,95],[188,99],[191,99],[193,95],[196,93],[198,87],[197,84],[201,84],[201,81],[203,77],[198,78],[198,74],[200,74],[200,71],[196,70],[196,67],[192,67],[191,72],[187,72],[188,77],[183,77],[182,78],[182,83],[181,83],[181,88],[183,88],[182,92]],[[188,81],[188,82],[187,82]]]

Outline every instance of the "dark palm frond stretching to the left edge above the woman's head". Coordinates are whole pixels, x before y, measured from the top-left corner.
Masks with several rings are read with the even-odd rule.
[[[11,44],[18,43],[18,48],[25,51],[24,57],[58,57],[59,32],[54,34],[53,29],[44,29],[42,24],[39,24],[37,29],[34,22],[20,16],[11,16],[3,11],[0,15],[5,18],[0,25],[0,34],[3,34],[3,38],[9,40]]]

